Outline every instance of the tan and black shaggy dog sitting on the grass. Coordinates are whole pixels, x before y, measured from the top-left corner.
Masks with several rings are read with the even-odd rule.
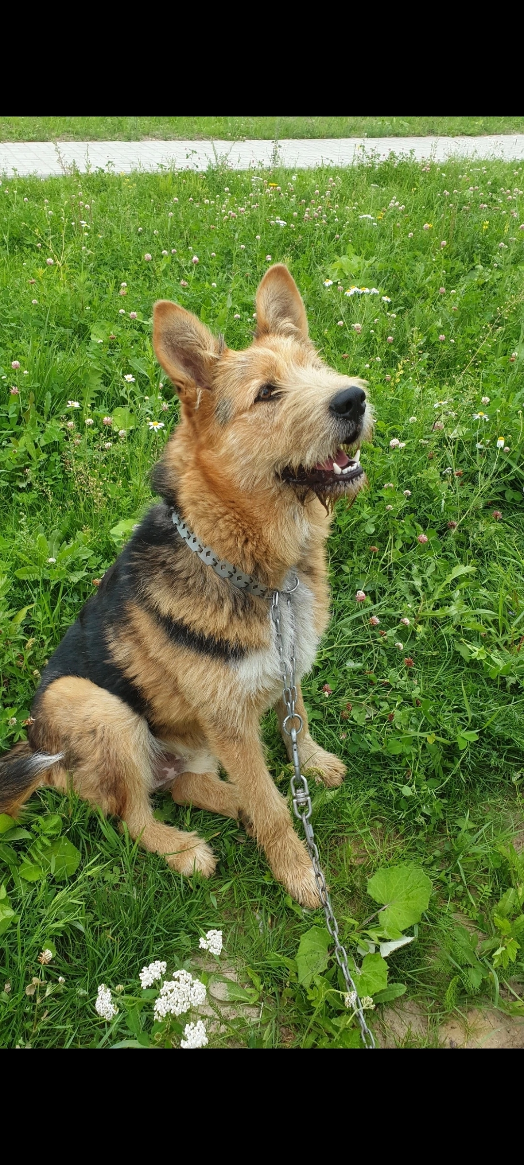
[[[345,767],[310,736],[299,680],[328,621],[328,515],[366,482],[360,444],[373,421],[362,383],[317,354],[281,264],[259,287],[256,324],[250,347],[232,352],[178,304],[155,305],[155,352],[180,400],[180,423],[153,476],[163,501],[42,673],[28,742],[0,763],[0,809],[16,816],[38,784],[65,790],[71,781],[172,869],[208,876],[210,846],[153,817],[150,793],[169,789],[179,805],[242,816],[275,877],[317,906],[310,859],[260,739],[268,708],[281,727],[286,714],[271,593],[298,578],[299,760],[339,785]],[[255,593],[234,585],[227,570],[221,577],[194,546],[252,576]]]

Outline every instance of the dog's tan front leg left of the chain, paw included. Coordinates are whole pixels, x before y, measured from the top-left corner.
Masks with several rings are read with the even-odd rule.
[[[207,726],[206,726],[207,727]],[[295,833],[284,798],[275,788],[264,762],[259,721],[249,720],[243,732],[224,728],[210,733],[210,746],[239,792],[239,803],[253,833],[264,849],[272,873],[303,906],[318,906],[313,867],[305,845]]]

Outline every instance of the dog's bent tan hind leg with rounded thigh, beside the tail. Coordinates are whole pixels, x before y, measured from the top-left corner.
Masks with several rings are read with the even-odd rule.
[[[65,754],[73,789],[105,813],[118,814],[132,838],[146,849],[163,854],[179,874],[199,870],[208,876],[215,867],[212,850],[197,833],[184,833],[157,821],[149,793],[154,788],[155,741],[146,720],[118,696],[88,679],[63,676],[42,694],[31,743]],[[63,786],[50,774],[51,784]]]

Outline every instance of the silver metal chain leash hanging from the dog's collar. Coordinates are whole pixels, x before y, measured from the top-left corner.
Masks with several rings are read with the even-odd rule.
[[[375,1047],[375,1039],[373,1032],[366,1023],[362,1004],[359,998],[359,993],[349,974],[349,968],[347,965],[347,952],[339,939],[339,924],[333,913],[333,908],[331,905],[330,892],[326,885],[326,878],[324,876],[324,870],[320,866],[320,856],[314,840],[313,827],[311,825],[311,796],[307,786],[307,781],[300,772],[300,762],[298,760],[298,746],[297,735],[302,732],[303,719],[296,712],[297,701],[297,687],[295,682],[295,668],[296,668],[296,644],[295,644],[295,619],[291,605],[291,596],[298,587],[298,578],[296,578],[295,586],[285,592],[275,591],[271,599],[271,619],[275,626],[275,636],[278,648],[278,656],[281,662],[281,672],[283,679],[283,698],[285,707],[288,709],[288,715],[283,721],[283,730],[288,734],[291,740],[291,760],[293,764],[293,775],[291,777],[291,797],[293,803],[295,817],[302,821],[304,826],[305,841],[307,846],[307,853],[311,857],[313,866],[314,881],[317,883],[317,889],[319,892],[321,906],[326,918],[327,930],[334,942],[334,955],[340,970],[344,975],[344,981],[347,987],[348,998],[350,1004],[355,1009],[356,1018],[359,1021],[360,1032],[362,1037],[362,1043],[364,1047]],[[289,659],[284,655],[284,641],[281,628],[281,596],[285,594],[288,603],[288,615],[290,623],[290,636],[289,636]],[[298,721],[298,728],[290,727],[291,721]]]

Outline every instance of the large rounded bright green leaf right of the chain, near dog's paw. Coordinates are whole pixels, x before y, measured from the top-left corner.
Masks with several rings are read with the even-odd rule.
[[[375,902],[383,903],[378,918],[384,930],[404,931],[420,922],[423,910],[427,909],[431,881],[419,866],[403,862],[377,870],[369,878],[368,894]]]

